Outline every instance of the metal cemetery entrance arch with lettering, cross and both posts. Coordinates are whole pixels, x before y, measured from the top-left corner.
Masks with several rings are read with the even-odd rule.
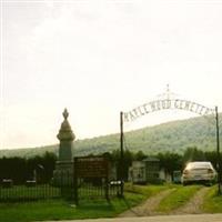
[[[167,92],[163,94],[162,99],[153,100],[148,103],[138,105],[137,108],[127,111],[120,112],[120,149],[121,149],[121,160],[123,160],[123,124],[125,122],[135,121],[138,118],[141,118],[145,114],[169,109],[185,110],[190,112],[198,113],[200,115],[213,115],[215,117],[215,131],[216,131],[216,153],[218,153],[218,183],[219,183],[219,194],[221,194],[221,163],[220,163],[220,140],[219,140],[219,114],[218,107],[214,109],[208,108],[203,104],[200,104],[194,101],[183,100],[175,97],[172,97],[173,93],[170,92],[169,85]],[[123,175],[122,175],[123,180]],[[122,183],[123,184],[123,183]],[[123,193],[123,185],[121,189]]]

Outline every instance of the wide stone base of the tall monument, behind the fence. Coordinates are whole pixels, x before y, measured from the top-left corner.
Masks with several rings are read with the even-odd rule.
[[[57,161],[52,184],[60,188],[73,186],[73,161]]]

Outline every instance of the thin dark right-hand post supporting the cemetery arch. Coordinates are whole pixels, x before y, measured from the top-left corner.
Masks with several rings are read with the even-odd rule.
[[[215,125],[216,125],[216,155],[218,155],[218,193],[221,195],[221,154],[220,154],[220,134],[219,134],[219,112],[215,107]]]

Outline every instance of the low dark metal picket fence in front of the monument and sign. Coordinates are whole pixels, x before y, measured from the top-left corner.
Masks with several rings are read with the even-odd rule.
[[[74,190],[72,182],[67,185],[62,183],[63,181],[65,181],[64,176],[62,176],[59,186],[53,185],[53,183],[38,184],[34,182],[20,185],[13,185],[12,183],[6,185],[4,183],[1,183],[0,202],[20,202],[59,198],[74,199],[77,192],[80,201],[82,199],[113,198],[120,194],[119,183],[107,182],[100,179],[79,179],[78,189]]]

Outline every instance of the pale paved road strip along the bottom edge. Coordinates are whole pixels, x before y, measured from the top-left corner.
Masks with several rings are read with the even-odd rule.
[[[95,220],[90,219],[65,222],[222,222],[222,214],[158,215],[144,218],[114,218]]]

